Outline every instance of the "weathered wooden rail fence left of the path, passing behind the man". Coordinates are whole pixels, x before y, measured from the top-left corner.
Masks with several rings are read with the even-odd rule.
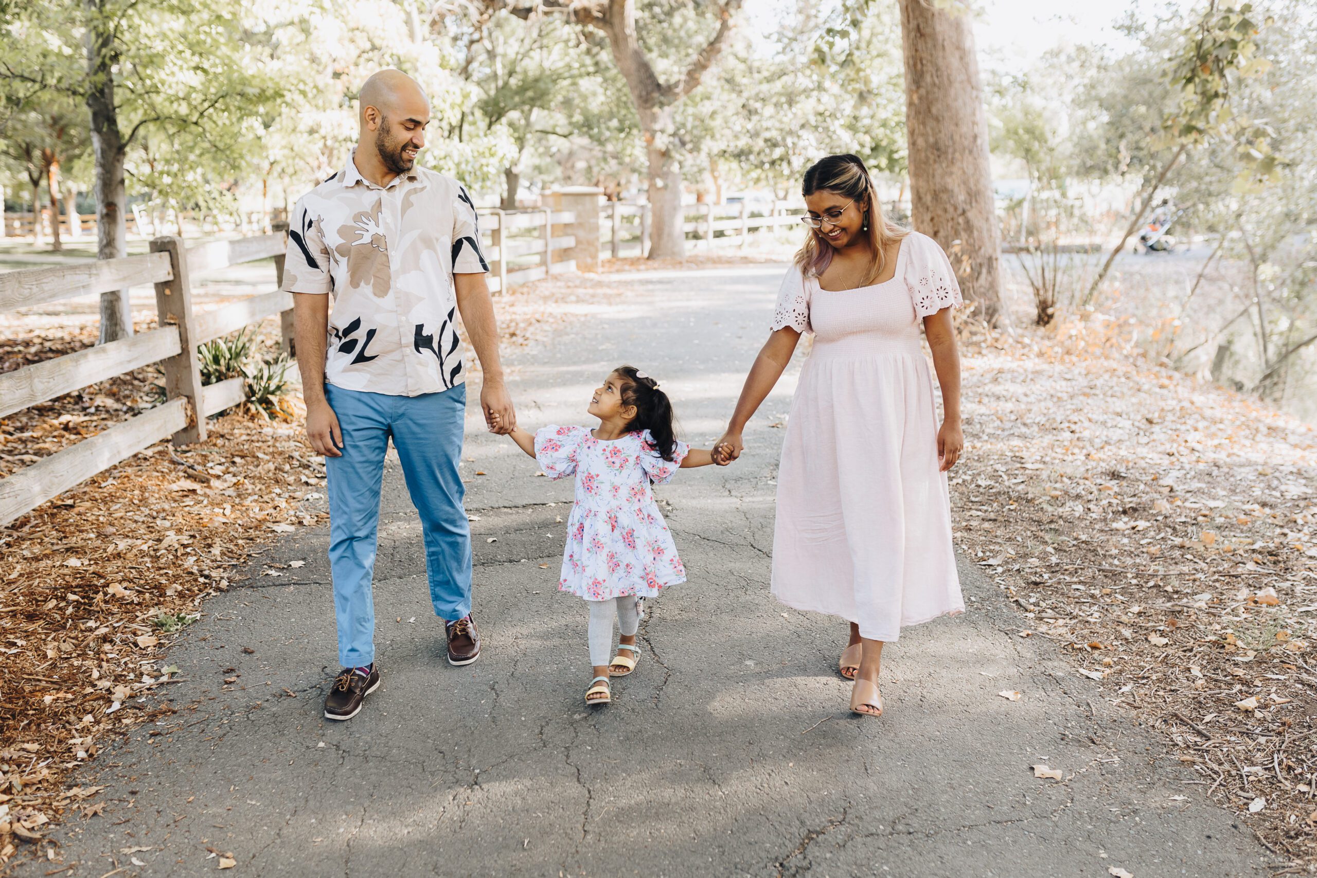
[[[569,211],[482,212],[490,290],[574,270],[573,259],[554,258],[576,245],[576,236],[562,234],[574,220]],[[157,329],[0,373],[0,417],[153,363],[165,373],[166,395],[161,405],[0,478],[0,525],[162,440],[173,437],[176,445],[203,441],[205,419],[245,399],[242,378],[202,384],[196,354],[205,342],[279,315],[283,349],[294,354],[292,296],[278,288],[286,251],[284,226],[273,234],[192,247],[178,237],[159,237],[142,255],[0,274],[0,313],[154,284],[159,317]],[[271,257],[274,292],[208,312],[194,308],[194,275]]]

